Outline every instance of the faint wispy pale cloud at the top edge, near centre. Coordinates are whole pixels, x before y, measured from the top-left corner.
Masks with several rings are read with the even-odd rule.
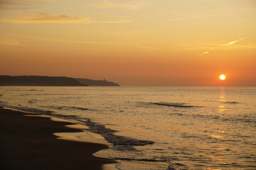
[[[119,4],[110,1],[104,1],[101,3],[92,3],[89,4],[95,8],[130,8],[130,9],[137,9],[139,7],[138,4]]]

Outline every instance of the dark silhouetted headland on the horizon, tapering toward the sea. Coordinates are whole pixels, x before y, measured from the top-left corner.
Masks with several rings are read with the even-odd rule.
[[[0,76],[0,86],[120,86],[111,81],[47,76]]]

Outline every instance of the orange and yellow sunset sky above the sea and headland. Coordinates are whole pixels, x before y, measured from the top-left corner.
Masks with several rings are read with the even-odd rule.
[[[256,86],[256,0],[0,0],[0,74]]]

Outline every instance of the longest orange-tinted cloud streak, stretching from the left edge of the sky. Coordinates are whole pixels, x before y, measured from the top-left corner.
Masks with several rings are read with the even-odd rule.
[[[132,23],[131,18],[120,20],[101,21],[90,17],[73,17],[66,15],[53,16],[48,13],[26,13],[16,18],[0,18],[1,22],[7,23]]]

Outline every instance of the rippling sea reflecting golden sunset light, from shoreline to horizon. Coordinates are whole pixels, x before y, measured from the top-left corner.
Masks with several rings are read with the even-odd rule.
[[[256,87],[1,86],[0,105],[79,120],[118,169],[256,169]],[[82,138],[82,137],[80,137]]]

